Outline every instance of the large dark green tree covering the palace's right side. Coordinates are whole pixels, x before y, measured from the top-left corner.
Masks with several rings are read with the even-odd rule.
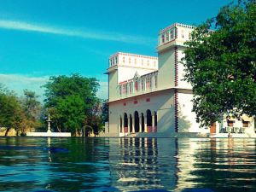
[[[186,44],[185,79],[193,86],[193,110],[201,125],[221,121],[224,114],[255,115],[256,1],[220,9]]]

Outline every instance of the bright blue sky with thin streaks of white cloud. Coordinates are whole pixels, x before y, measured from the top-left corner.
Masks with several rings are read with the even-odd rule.
[[[0,83],[42,95],[49,76],[80,73],[102,84],[117,51],[156,55],[160,29],[197,25],[230,0],[0,0]]]

